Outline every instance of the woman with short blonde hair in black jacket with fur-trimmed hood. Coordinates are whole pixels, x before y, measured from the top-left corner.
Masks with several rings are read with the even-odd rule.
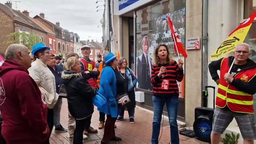
[[[73,143],[82,144],[86,121],[93,113],[92,99],[96,95],[96,89],[81,76],[81,65],[76,57],[70,57],[65,68],[61,77],[67,92],[69,112],[76,121]]]

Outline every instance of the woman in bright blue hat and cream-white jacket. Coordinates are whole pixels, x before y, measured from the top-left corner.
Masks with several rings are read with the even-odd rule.
[[[50,48],[43,43],[33,46],[32,55],[34,61],[31,68],[28,69],[29,75],[35,80],[41,93],[42,99],[47,103],[47,124],[50,129],[50,135],[53,129],[53,107],[56,104],[59,95],[56,93],[55,77],[47,67],[47,61],[50,60]],[[49,143],[49,138],[47,143]]]

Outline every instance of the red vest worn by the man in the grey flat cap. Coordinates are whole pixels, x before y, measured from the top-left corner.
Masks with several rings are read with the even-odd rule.
[[[82,58],[81,61],[84,65],[84,71],[92,71],[96,67],[95,61],[93,60],[92,62],[89,62]],[[88,79],[87,81],[91,85],[91,87],[97,88],[97,81],[95,77]]]

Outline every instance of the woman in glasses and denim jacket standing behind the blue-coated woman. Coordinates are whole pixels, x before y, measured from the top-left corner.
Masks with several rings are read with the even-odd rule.
[[[121,111],[118,114],[116,121],[124,120],[124,109],[127,108],[130,123],[134,123],[134,112],[135,112],[135,91],[134,87],[137,83],[137,77],[135,76],[132,69],[127,68],[127,60],[124,57],[120,57],[118,61],[119,72],[125,80],[125,89],[128,93],[129,99],[131,100],[128,104],[121,107]]]

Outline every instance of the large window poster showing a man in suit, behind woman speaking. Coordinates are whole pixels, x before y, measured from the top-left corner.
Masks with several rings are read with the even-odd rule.
[[[136,69],[137,69],[137,88],[152,91],[153,85],[150,82],[151,79],[151,67],[153,65],[153,52],[159,44],[166,44],[171,52],[171,55],[175,61],[178,61],[179,57],[173,49],[173,41],[171,37],[171,30],[169,28],[167,15],[172,20],[180,39],[184,44],[185,42],[185,8],[175,11],[173,13],[167,13],[160,15],[159,17],[151,21],[150,33],[140,33],[136,35]],[[180,55],[180,58],[184,61],[184,57]],[[184,68],[184,66],[183,66]],[[184,77],[185,78],[185,77]],[[183,81],[178,82],[179,97],[184,97],[185,87]]]

